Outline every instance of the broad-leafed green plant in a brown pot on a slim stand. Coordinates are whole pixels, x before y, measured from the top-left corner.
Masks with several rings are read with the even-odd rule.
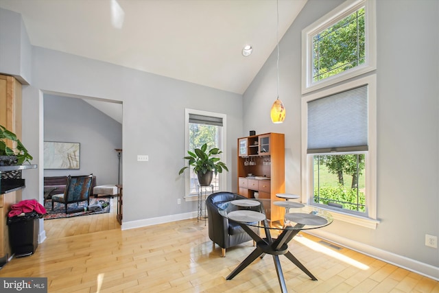
[[[207,150],[207,144],[204,143],[201,148],[195,148],[193,152],[187,151],[189,156],[185,156],[183,159],[188,160],[189,166],[182,167],[178,175],[182,174],[185,169],[193,166],[193,172],[198,176],[198,182],[200,185],[210,185],[213,177],[218,173],[222,173],[223,170],[228,171],[225,163],[220,161],[221,159],[217,157],[222,151],[218,148],[212,148]]]

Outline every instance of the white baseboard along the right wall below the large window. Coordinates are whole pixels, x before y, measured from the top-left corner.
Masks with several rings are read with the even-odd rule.
[[[376,259],[380,259],[387,263],[392,263],[395,266],[405,268],[406,270],[410,270],[412,272],[416,272],[417,274],[422,274],[425,277],[429,277],[431,279],[439,281],[439,268],[431,266],[427,263],[421,263],[420,261],[416,261],[408,257],[403,257],[402,255],[396,255],[394,253],[390,253],[389,251],[381,250],[367,244],[356,242],[351,239],[329,233],[327,231],[307,230],[304,232],[315,235],[322,239],[326,239],[335,244],[340,244],[341,246],[355,250],[359,253],[363,253],[364,255],[375,257]]]

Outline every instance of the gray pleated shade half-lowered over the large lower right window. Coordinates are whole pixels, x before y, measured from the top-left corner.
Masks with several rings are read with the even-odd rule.
[[[308,154],[368,150],[368,86],[308,104]]]

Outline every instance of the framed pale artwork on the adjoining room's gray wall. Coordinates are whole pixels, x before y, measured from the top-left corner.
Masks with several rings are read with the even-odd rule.
[[[44,142],[45,169],[80,169],[80,143]]]

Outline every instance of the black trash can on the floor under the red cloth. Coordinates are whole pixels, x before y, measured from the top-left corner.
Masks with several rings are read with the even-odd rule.
[[[38,247],[40,222],[38,214],[14,216],[8,219],[9,243],[16,257],[25,257],[35,253]]]

